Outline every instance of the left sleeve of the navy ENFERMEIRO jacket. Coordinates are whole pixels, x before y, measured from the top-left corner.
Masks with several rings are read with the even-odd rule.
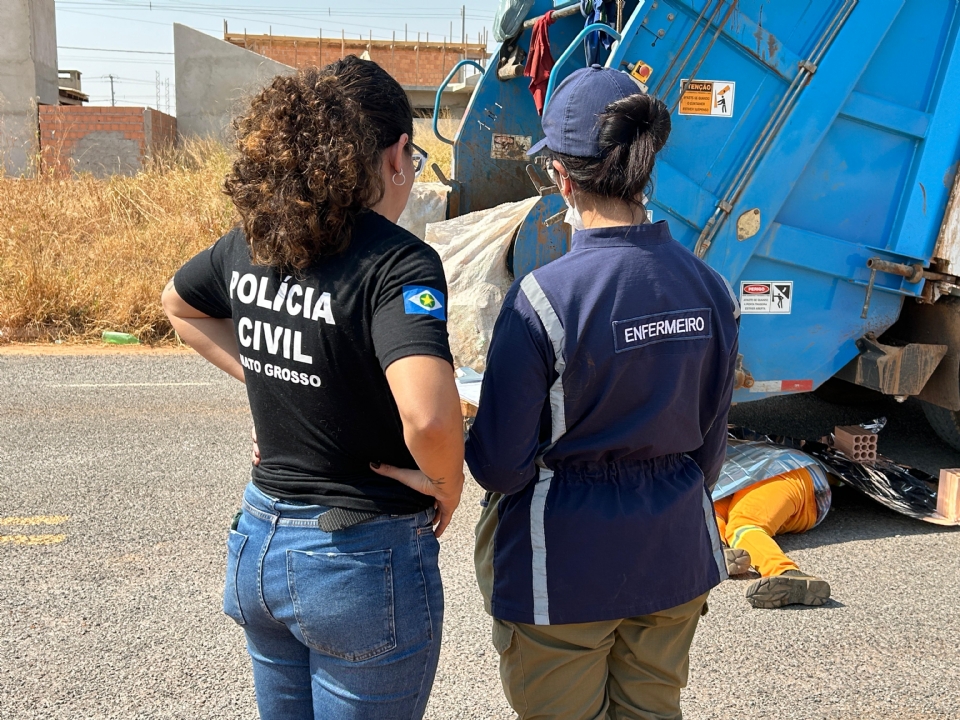
[[[494,327],[466,448],[476,481],[504,495],[519,492],[538,476],[542,417],[556,376],[543,326],[517,291],[515,286],[507,295]]]

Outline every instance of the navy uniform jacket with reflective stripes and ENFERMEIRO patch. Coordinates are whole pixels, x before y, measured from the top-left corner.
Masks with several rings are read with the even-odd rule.
[[[726,577],[709,488],[726,450],[739,307],[665,222],[577,232],[517,281],[467,463],[493,493],[493,615],[644,615]]]

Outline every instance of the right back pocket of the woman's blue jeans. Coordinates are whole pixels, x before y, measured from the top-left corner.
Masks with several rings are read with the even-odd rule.
[[[390,550],[287,551],[287,582],[304,642],[360,662],[397,646]]]

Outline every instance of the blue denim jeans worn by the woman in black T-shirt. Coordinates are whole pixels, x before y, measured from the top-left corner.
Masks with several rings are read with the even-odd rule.
[[[260,717],[421,718],[443,624],[433,510],[333,533],[324,510],[251,483],[227,539],[223,611],[246,633]]]

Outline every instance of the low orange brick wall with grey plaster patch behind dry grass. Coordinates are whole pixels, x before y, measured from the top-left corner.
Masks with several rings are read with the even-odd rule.
[[[40,107],[43,166],[62,175],[134,175],[176,137],[176,118],[152,108]]]

